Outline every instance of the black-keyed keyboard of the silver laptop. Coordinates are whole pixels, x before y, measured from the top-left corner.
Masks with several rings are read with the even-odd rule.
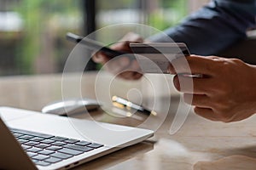
[[[15,138],[26,150],[32,161],[40,166],[49,166],[84,152],[101,148],[103,144],[90,143],[84,140],[67,139],[44,133],[10,128]]]

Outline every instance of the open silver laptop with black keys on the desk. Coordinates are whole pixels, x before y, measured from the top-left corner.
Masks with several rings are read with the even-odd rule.
[[[106,133],[99,127],[117,131]],[[11,107],[0,107],[0,133],[0,169],[69,169],[154,134],[143,128]]]

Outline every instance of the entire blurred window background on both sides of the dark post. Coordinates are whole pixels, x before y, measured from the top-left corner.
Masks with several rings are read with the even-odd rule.
[[[86,35],[95,29],[94,17],[96,29],[133,22],[163,30],[189,14],[192,2],[206,1],[0,0],[0,75],[61,72],[75,45],[67,42],[67,31]]]

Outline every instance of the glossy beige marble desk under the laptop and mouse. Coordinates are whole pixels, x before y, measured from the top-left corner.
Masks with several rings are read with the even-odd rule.
[[[44,105],[62,98],[61,77],[61,74],[0,77],[0,105],[41,111]],[[96,99],[96,79],[106,81],[104,78],[108,79],[108,74],[106,77],[97,77],[95,72],[84,74],[80,80],[81,87],[83,87],[81,96]],[[76,74],[70,74],[67,79],[70,82],[76,82],[79,77]],[[141,90],[141,94],[148,99],[145,105],[150,106],[150,95],[152,93],[150,88],[147,88],[147,81],[155,84],[159,83],[157,85],[159,88],[156,89],[159,90],[159,93],[155,94],[158,95],[157,99],[162,104],[171,99],[171,105],[169,105],[169,112],[165,121],[157,129],[154,137],[140,144],[118,150],[108,156],[102,156],[74,169],[256,169],[256,116],[241,122],[211,122],[196,116],[191,110],[177,133],[170,134],[169,129],[177,112],[177,106],[185,106],[185,104],[180,103],[179,94],[172,87],[172,77],[167,77],[166,81],[170,86],[171,96],[161,91],[160,79],[157,76],[149,76],[148,80],[143,81],[115,82],[110,91],[113,94],[124,96],[127,91],[136,94],[137,90]],[[70,91],[67,90],[66,92],[67,98],[81,97],[73,96],[75,85],[73,86],[71,83],[68,87]],[[104,99],[104,95],[107,94],[102,93],[103,97],[101,99]],[[159,107],[161,108],[161,105]],[[87,116],[83,114],[74,116],[86,119],[88,114]],[[90,116],[102,122],[131,126],[137,126],[137,124],[147,119],[147,116],[142,116],[143,119],[140,120],[131,117],[108,119],[109,115],[106,118],[104,110],[94,111],[90,113]]]

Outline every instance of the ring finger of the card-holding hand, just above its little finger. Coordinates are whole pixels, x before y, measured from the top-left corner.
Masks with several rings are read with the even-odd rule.
[[[201,108],[211,108],[210,98],[205,94],[183,94],[184,102]]]

